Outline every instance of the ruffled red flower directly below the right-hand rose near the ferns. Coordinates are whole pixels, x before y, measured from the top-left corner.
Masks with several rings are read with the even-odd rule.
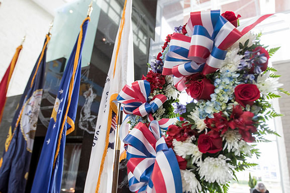
[[[253,121],[253,117],[254,113],[243,111],[240,105],[236,105],[233,108],[233,112],[230,117],[231,121],[229,121],[229,126],[232,129],[238,128],[239,133],[246,142],[253,142],[255,140],[252,133],[255,133],[257,128],[254,126],[255,122]]]

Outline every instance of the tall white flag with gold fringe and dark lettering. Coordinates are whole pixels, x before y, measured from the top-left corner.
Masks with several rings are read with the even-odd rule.
[[[127,3],[126,3],[127,2]],[[113,56],[100,104],[84,193],[112,191],[117,106],[113,102],[134,81],[132,0],[125,1]]]

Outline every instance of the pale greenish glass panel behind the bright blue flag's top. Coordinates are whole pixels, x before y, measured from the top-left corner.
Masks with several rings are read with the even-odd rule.
[[[46,61],[66,58],[68,61],[71,50],[75,44],[82,21],[86,18],[90,0],[81,0],[66,4],[57,10],[51,31],[51,40],[47,49]],[[98,26],[100,7],[93,2],[93,12],[87,27],[86,38],[83,45],[81,66],[87,66],[91,58],[93,40]]]

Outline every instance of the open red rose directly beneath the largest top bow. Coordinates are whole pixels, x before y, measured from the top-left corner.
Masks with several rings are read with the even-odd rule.
[[[188,85],[188,86],[187,86]],[[210,80],[204,78],[202,80],[193,81],[191,84],[187,84],[186,92],[192,98],[196,100],[205,99],[211,100],[211,94],[215,92],[215,86]]]

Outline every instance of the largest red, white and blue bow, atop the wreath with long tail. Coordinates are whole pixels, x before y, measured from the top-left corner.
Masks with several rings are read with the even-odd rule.
[[[222,67],[227,51],[243,35],[271,16],[264,15],[236,28],[220,11],[192,12],[186,25],[188,36],[174,33],[165,57],[163,75],[174,75],[174,86],[185,89],[184,77],[210,74]]]

